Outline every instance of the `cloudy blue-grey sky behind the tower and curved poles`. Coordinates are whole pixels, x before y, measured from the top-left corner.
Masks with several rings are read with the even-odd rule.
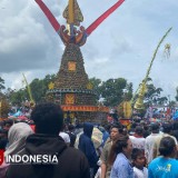
[[[68,0],[43,0],[60,24]],[[78,0],[89,27],[117,0]],[[178,1],[126,0],[105,20],[81,47],[89,78],[126,78],[135,90],[145,78],[152,53],[172,27],[151,68],[150,77],[162,96],[176,96],[178,87]],[[57,73],[65,46],[34,0],[0,0],[0,76],[10,88],[22,87],[22,72],[29,82]],[[171,44],[170,58],[164,56]]]

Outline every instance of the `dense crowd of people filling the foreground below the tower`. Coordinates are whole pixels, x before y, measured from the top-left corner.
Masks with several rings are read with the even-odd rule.
[[[60,106],[37,105],[30,122],[0,122],[0,178],[177,178],[178,121],[65,125]],[[96,147],[93,128],[102,132]],[[77,142],[78,134],[79,135]],[[58,162],[10,164],[8,156],[57,156]]]

